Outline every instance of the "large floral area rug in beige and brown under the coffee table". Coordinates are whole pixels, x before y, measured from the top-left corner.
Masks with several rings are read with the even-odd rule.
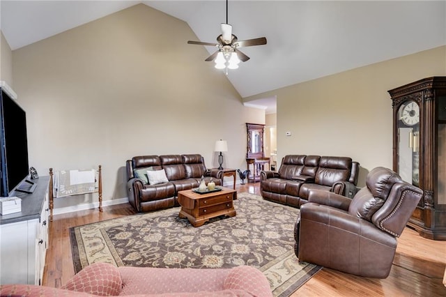
[[[180,208],[70,228],[76,273],[95,262],[115,266],[231,268],[262,271],[275,296],[289,296],[321,266],[299,263],[293,229],[299,210],[239,193],[236,216],[201,227],[178,218]]]

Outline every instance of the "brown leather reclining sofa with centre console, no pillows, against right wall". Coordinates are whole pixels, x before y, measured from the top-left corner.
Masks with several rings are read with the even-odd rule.
[[[357,192],[358,162],[348,157],[286,155],[279,172],[261,172],[263,199],[300,207],[312,189],[353,197]]]

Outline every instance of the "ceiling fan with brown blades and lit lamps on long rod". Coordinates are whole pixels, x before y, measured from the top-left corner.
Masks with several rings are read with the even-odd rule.
[[[211,45],[218,47],[205,61],[213,61],[215,59],[215,68],[226,68],[226,75],[229,69],[237,69],[240,61],[248,61],[249,56],[238,50],[238,47],[251,47],[253,45],[266,45],[266,38],[254,38],[249,40],[238,41],[237,36],[232,33],[232,26],[228,24],[228,0],[226,0],[226,24],[221,25],[222,34],[217,36],[218,43],[202,43],[201,41],[187,41],[190,45]]]

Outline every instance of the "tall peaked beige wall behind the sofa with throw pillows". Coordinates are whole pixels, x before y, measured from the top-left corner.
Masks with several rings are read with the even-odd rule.
[[[102,165],[104,199],[125,192],[125,160],[134,155],[201,153],[218,165],[244,168],[246,122],[264,111],[244,107],[226,79],[204,59],[189,26],[144,4],[13,52],[14,89],[27,112],[30,166]],[[56,206],[89,197],[56,201]]]

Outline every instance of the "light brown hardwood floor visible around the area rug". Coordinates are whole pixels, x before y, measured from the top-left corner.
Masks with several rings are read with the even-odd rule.
[[[238,192],[260,195],[259,183],[237,185]],[[134,211],[130,204],[54,215],[49,225],[49,248],[43,285],[60,287],[75,274],[68,229],[109,220]],[[323,268],[292,296],[446,296],[442,284],[446,266],[446,242],[422,238],[406,228],[399,238],[392,271],[385,280],[357,277]]]

